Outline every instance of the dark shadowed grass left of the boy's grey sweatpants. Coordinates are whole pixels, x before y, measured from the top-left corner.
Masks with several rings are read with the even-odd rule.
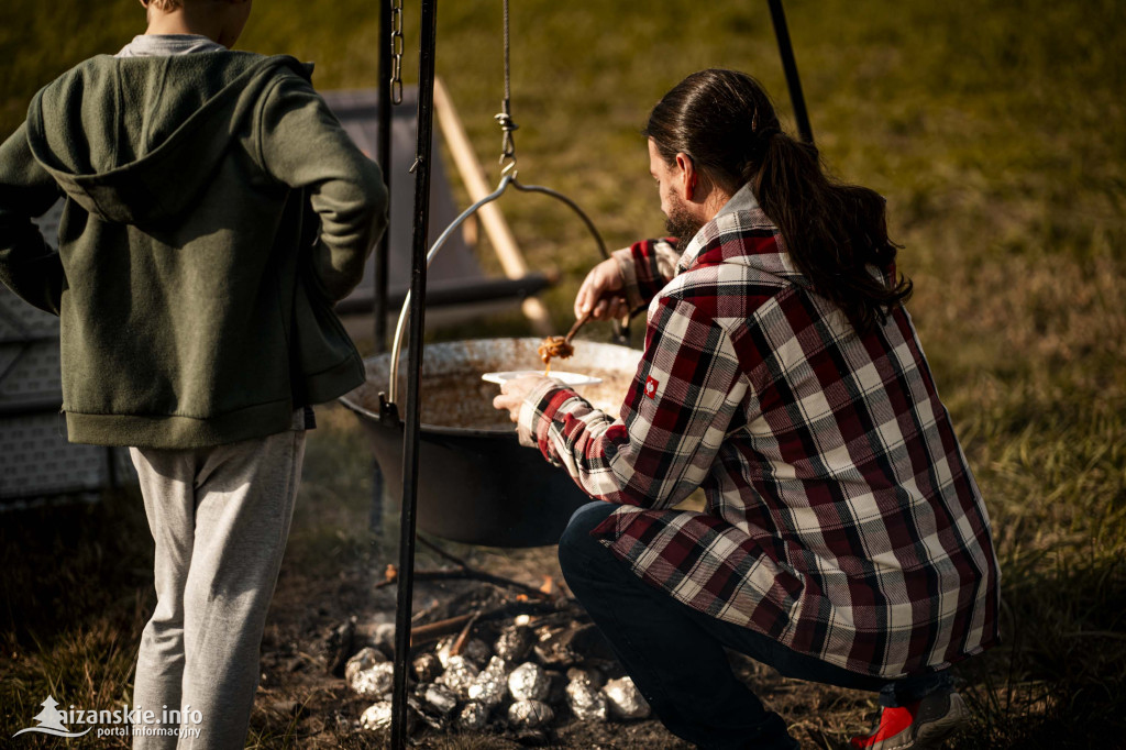
[[[131,704],[136,648],[155,602],[140,492],[7,514],[0,571],[0,736],[34,726],[48,695],[62,708]],[[20,738],[25,748],[56,742]],[[120,739],[97,742],[127,747]]]

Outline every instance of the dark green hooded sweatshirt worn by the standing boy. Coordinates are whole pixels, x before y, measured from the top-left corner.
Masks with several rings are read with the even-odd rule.
[[[363,383],[332,304],[387,196],[309,77],[241,52],[98,56],[0,145],[0,280],[61,318],[71,441],[261,437]],[[30,218],[60,195],[56,253]]]

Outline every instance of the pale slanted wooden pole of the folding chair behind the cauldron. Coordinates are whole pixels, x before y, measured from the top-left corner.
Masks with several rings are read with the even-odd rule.
[[[441,136],[449,146],[449,152],[454,157],[454,163],[462,176],[462,182],[470,194],[470,202],[476,203],[492,190],[485,181],[485,170],[481,167],[481,161],[473,151],[470,136],[465,133],[462,118],[454,109],[454,102],[446,91],[441,79],[437,79],[434,84],[434,106],[438,114],[438,125],[441,128]],[[504,275],[509,278],[521,278],[528,274],[528,264],[520,252],[520,247],[516,243],[512,230],[504,221],[500,207],[495,203],[490,203],[481,207],[477,212],[485,234],[492,243],[493,251],[500,260]],[[522,304],[524,314],[531,322],[533,330],[539,336],[548,336],[552,332],[551,315],[547,307],[536,297],[528,297]]]

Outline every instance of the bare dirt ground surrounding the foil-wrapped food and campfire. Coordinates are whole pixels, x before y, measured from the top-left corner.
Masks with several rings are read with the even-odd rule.
[[[386,745],[385,736],[359,726],[358,718],[372,700],[350,693],[342,678],[329,673],[329,662],[333,659],[332,633],[350,616],[356,616],[361,625],[373,620],[393,622],[394,587],[373,590],[373,584],[382,578],[386,560],[340,571],[334,579],[306,577],[293,569],[283,572],[262,644],[262,679],[254,704],[251,740],[257,739],[261,747],[289,743],[301,748]],[[553,547],[497,551],[474,564],[528,583],[538,584],[545,575],[554,581],[562,580]],[[485,592],[493,587],[464,581],[419,582],[414,590],[414,609],[448,602],[471,588]],[[488,626],[484,630],[488,632]],[[361,645],[357,641],[352,650]],[[738,654],[733,660],[739,673],[768,706],[786,717],[790,733],[803,748],[843,748],[850,734],[867,725],[858,724],[858,718],[870,720],[878,711],[872,695],[787,680]],[[671,735],[653,718],[581,722],[566,709],[556,713],[548,730],[542,733],[497,730],[482,734],[445,734],[421,726],[412,742],[435,749],[692,747]]]

